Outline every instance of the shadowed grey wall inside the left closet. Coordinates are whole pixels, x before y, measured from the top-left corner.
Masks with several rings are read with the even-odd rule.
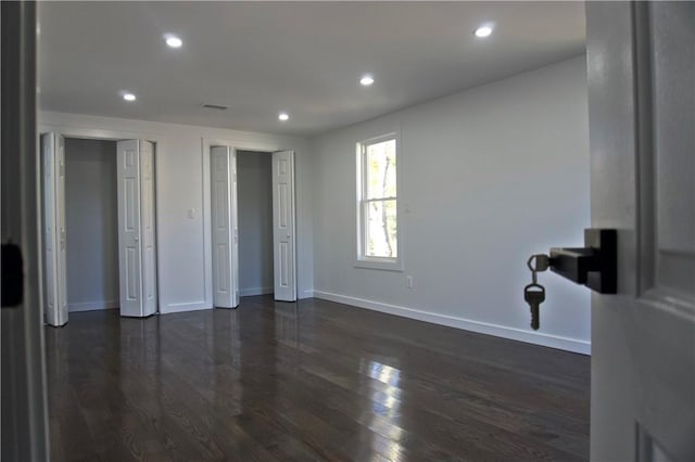
[[[70,311],[118,307],[116,143],[65,140]]]

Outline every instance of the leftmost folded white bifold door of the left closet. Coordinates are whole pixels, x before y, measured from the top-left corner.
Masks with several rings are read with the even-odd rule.
[[[46,322],[67,323],[65,248],[65,141],[58,133],[41,136],[43,307]]]

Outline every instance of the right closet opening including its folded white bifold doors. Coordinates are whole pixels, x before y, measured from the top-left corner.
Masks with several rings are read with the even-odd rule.
[[[210,152],[212,306],[296,300],[294,152],[204,141]],[[205,147],[204,147],[205,149]]]

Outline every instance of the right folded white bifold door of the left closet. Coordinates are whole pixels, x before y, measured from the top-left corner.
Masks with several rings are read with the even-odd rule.
[[[154,146],[149,141],[117,143],[118,274],[121,316],[154,315],[156,242],[154,228]]]

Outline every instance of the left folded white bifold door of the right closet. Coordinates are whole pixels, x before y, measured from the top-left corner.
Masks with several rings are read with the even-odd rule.
[[[239,305],[237,153],[229,146],[211,147],[211,209],[213,246],[213,306]]]

